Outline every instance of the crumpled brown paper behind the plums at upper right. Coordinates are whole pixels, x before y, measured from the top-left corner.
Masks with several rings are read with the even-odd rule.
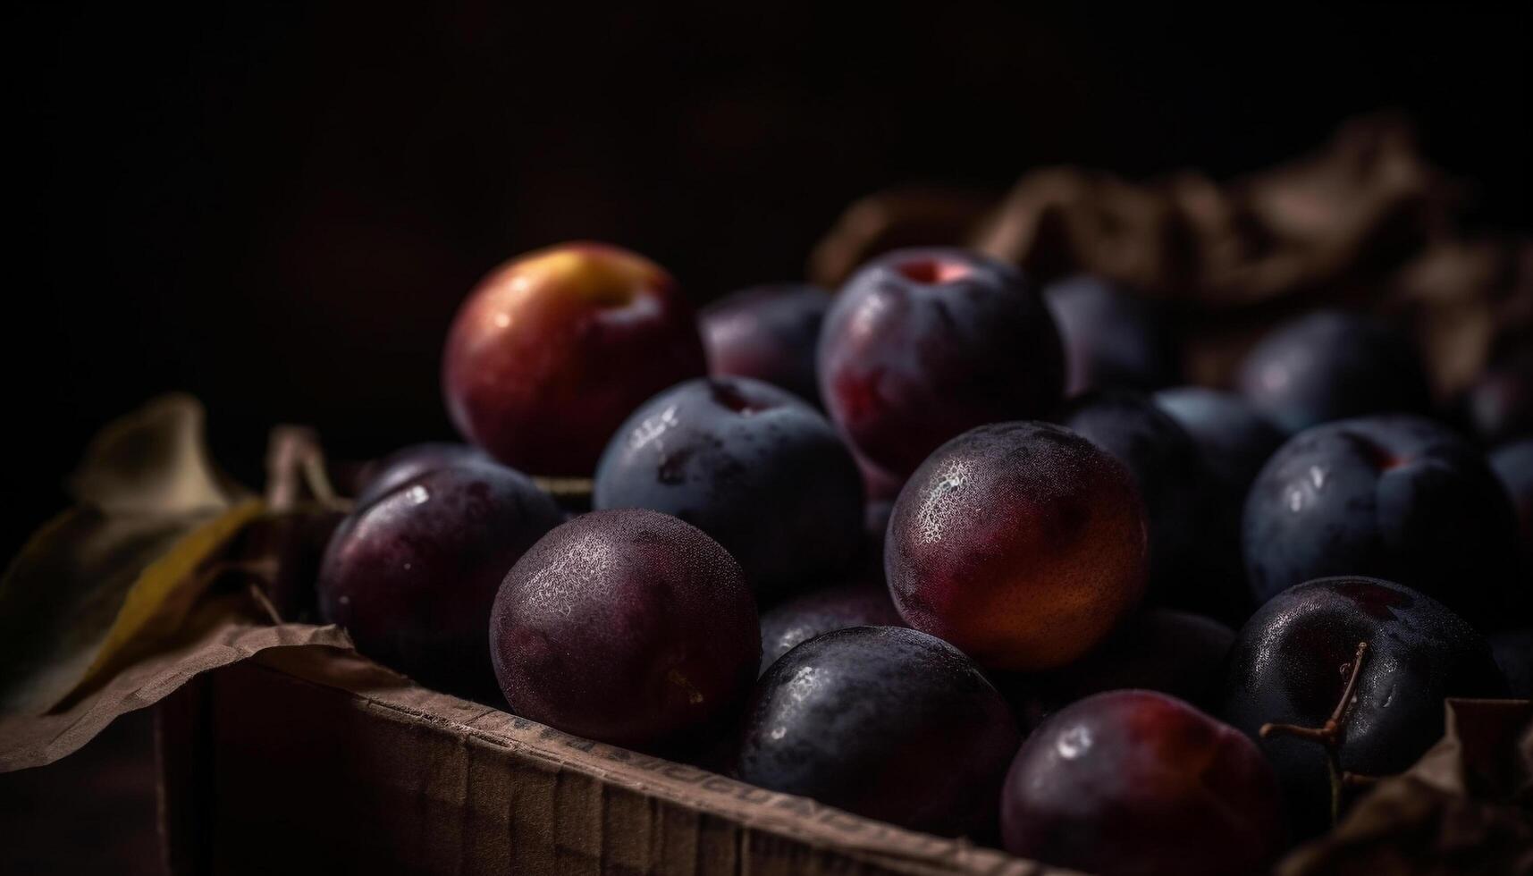
[[[1493,353],[1533,344],[1533,241],[1459,229],[1462,201],[1409,126],[1366,118],[1312,156],[1223,184],[1047,167],[995,209],[963,193],[872,195],[809,270],[834,288],[868,258],[920,242],[972,245],[1042,281],[1111,278],[1188,305],[1188,373],[1211,385],[1275,319],[1318,304],[1372,310],[1415,333],[1436,388],[1453,393]]]

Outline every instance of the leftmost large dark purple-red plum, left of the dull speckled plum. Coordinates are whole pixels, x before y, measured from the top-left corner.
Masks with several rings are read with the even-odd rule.
[[[415,476],[351,512],[320,565],[320,617],[357,650],[452,692],[494,695],[489,623],[510,566],[560,523],[558,506],[498,465]]]

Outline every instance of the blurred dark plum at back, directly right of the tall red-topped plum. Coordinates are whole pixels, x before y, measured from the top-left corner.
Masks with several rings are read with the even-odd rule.
[[[1110,279],[1078,275],[1044,287],[1064,342],[1065,393],[1156,390],[1182,376],[1164,307]]]

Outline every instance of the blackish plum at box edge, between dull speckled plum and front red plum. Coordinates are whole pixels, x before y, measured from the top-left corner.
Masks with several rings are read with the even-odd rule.
[[[903,627],[814,637],[756,684],[736,773],[943,836],[993,830],[1021,736],[957,647]]]

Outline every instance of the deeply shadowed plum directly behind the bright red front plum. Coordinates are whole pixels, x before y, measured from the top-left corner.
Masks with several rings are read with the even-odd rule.
[[[1145,609],[1081,660],[1038,683],[1059,704],[1104,690],[1157,690],[1206,706],[1236,631],[1214,618]]]

